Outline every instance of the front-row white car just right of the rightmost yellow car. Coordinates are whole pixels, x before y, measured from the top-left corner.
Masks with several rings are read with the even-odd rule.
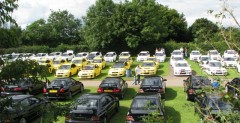
[[[174,76],[192,75],[192,69],[186,60],[176,61],[173,66]]]

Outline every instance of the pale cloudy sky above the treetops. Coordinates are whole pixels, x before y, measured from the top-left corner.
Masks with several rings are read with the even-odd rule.
[[[22,28],[25,28],[41,18],[47,20],[51,10],[67,10],[75,18],[81,18],[86,15],[88,8],[94,5],[95,2],[96,0],[19,0],[19,7],[13,12],[12,16]],[[156,0],[156,2],[183,13],[188,26],[191,26],[199,18],[207,18],[216,22],[217,19],[214,15],[209,14],[207,11],[219,12],[223,3],[221,0]],[[240,0],[228,0],[228,4],[240,22]],[[233,19],[225,19],[223,24],[224,26],[236,26]]]

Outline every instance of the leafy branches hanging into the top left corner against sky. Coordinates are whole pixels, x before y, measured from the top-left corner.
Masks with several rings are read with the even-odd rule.
[[[6,22],[11,22],[17,25],[16,21],[12,18],[11,13],[14,9],[18,8],[16,3],[18,0],[1,0],[0,1],[0,26]]]

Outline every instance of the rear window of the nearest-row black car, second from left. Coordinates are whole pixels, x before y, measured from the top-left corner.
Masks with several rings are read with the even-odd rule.
[[[91,98],[80,98],[77,99],[74,104],[75,110],[84,110],[84,109],[96,109],[98,107],[98,100]]]

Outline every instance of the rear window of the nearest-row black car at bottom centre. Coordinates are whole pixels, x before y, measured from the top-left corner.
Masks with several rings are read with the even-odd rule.
[[[134,99],[132,109],[139,110],[153,110],[157,109],[157,100],[155,98],[137,98]]]

